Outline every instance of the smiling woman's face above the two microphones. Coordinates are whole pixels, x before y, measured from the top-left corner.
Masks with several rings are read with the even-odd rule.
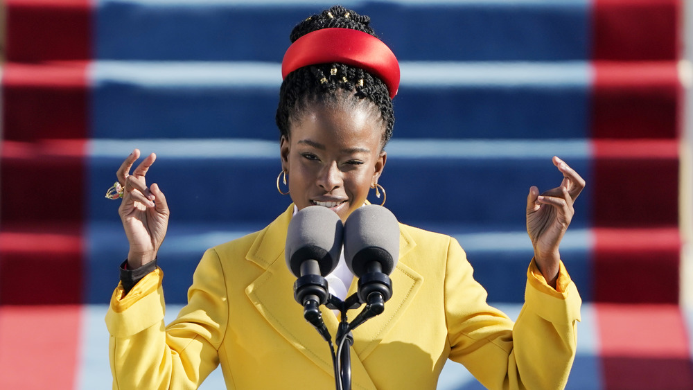
[[[368,105],[313,105],[281,139],[281,165],[291,200],[300,209],[329,207],[342,221],[366,200],[387,154],[381,152],[385,125]]]

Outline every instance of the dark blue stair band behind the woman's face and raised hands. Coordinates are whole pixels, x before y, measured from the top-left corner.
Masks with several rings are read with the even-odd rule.
[[[529,186],[546,190],[560,184],[560,173],[544,160],[391,157],[380,183],[387,190],[387,206],[407,224],[436,221],[523,231]],[[90,220],[114,215],[117,202],[103,197],[104,188],[112,183],[104,178],[114,177],[121,162],[91,159],[91,182],[100,180],[100,184],[88,194]],[[588,172],[586,161],[571,163],[579,172]],[[175,218],[242,223],[271,221],[291,202],[277,192],[275,179],[280,171],[279,156],[276,160],[161,158],[147,177],[165,191]],[[589,199],[589,193],[584,193],[579,200],[586,210]],[[585,227],[587,222],[588,213],[581,212],[572,224]]]

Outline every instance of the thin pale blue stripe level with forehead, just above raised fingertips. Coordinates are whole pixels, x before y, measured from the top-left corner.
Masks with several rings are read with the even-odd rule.
[[[125,158],[134,148],[143,155],[157,153],[161,158],[194,159],[278,159],[279,142],[254,139],[91,139],[87,151],[91,157]],[[459,140],[399,139],[385,147],[389,158],[457,159],[543,159],[559,155],[564,159],[590,155],[585,140]]]

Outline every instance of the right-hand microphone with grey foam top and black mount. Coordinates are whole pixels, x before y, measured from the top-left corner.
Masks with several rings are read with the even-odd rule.
[[[392,297],[389,274],[399,257],[399,223],[383,206],[362,206],[344,224],[344,258],[358,279],[358,297],[366,309],[351,323],[356,328],[385,310]]]

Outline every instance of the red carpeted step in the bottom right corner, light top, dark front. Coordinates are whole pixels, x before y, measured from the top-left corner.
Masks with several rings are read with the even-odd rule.
[[[651,290],[651,285],[642,285]],[[685,323],[676,305],[597,304],[604,389],[693,389]]]

